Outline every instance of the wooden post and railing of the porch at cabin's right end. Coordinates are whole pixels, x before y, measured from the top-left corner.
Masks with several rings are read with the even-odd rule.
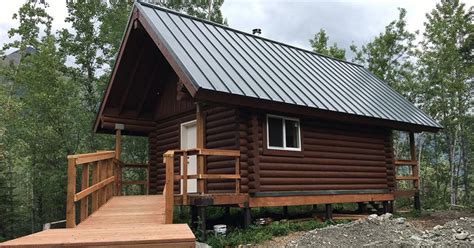
[[[397,188],[394,192],[395,198],[409,198],[413,197],[413,205],[416,210],[421,209],[421,202],[420,202],[420,177],[419,177],[419,166],[418,160],[416,158],[416,143],[415,143],[415,134],[413,132],[409,132],[409,143],[410,143],[410,159],[409,160],[395,160],[395,166],[410,166],[411,167],[411,175],[409,176],[398,176],[397,170],[395,171],[395,179],[397,181]],[[410,190],[400,190],[398,189],[398,182],[399,181],[412,181],[413,186]]]

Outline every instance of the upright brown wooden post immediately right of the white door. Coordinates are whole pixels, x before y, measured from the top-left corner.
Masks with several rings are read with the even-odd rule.
[[[204,130],[204,123],[205,121],[205,116],[204,116],[204,111],[202,111],[201,104],[196,105],[196,148],[204,148],[204,136],[205,136],[205,130]],[[205,172],[205,157],[197,155],[197,174],[202,175]],[[204,194],[206,193],[206,184],[203,179],[198,178],[197,179],[197,190],[198,193]]]

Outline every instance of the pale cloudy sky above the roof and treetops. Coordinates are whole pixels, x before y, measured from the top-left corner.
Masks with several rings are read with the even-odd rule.
[[[2,2],[0,44],[8,41],[7,30],[16,25],[11,19],[24,0]],[[370,41],[398,16],[398,7],[407,9],[408,28],[423,30],[425,14],[434,0],[225,0],[222,12],[229,26],[250,32],[261,28],[262,36],[309,49],[309,39],[324,28],[330,42],[348,48]],[[474,0],[463,0],[468,6]],[[50,0],[48,12],[55,29],[67,27],[65,0]]]

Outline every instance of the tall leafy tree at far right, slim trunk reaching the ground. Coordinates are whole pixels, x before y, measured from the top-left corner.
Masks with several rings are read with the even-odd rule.
[[[470,42],[466,34],[472,31],[472,18],[464,7],[458,0],[441,0],[426,15],[419,58],[420,102],[444,127],[435,142],[447,154],[451,205],[458,202],[459,175],[468,174],[466,131],[472,130],[468,111],[472,108],[473,68],[462,52]]]

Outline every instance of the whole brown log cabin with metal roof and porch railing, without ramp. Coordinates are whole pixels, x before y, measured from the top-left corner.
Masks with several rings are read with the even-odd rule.
[[[419,208],[414,133],[440,128],[360,65],[142,2],[94,126],[148,138],[146,184],[168,223],[190,205],[204,220],[206,206],[237,206],[247,224],[256,207]],[[409,133],[410,158],[395,158],[394,131]]]

